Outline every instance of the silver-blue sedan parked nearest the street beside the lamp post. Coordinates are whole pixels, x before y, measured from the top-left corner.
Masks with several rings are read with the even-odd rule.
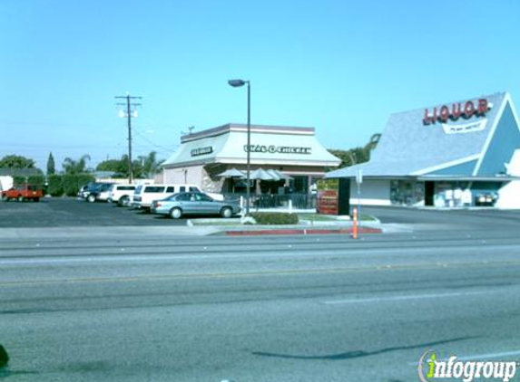
[[[200,192],[182,192],[154,200],[150,206],[154,214],[179,219],[183,215],[221,215],[231,217],[240,213],[240,205],[232,201],[218,201]]]

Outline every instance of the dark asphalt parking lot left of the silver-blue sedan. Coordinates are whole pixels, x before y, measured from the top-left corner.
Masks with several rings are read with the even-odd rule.
[[[84,227],[113,225],[186,225],[129,207],[87,203],[74,197],[45,197],[39,203],[0,203],[0,227]]]

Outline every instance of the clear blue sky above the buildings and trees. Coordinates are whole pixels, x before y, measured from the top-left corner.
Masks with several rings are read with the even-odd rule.
[[[520,2],[0,0],[0,157],[134,155],[246,121],[364,145],[392,112],[495,91],[520,103]]]

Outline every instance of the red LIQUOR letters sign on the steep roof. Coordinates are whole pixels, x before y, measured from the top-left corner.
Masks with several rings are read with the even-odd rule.
[[[431,125],[437,121],[447,122],[448,119],[469,119],[474,115],[477,117],[482,117],[485,116],[486,112],[491,109],[491,106],[491,103],[489,103],[486,99],[480,99],[478,100],[478,103],[475,103],[472,100],[468,100],[464,104],[461,102],[453,103],[451,107],[443,105],[438,109],[437,107],[433,108],[433,110],[425,109],[423,123],[425,125]]]

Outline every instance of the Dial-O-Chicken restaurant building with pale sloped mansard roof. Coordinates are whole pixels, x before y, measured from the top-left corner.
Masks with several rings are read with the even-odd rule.
[[[208,192],[244,193],[245,179],[222,174],[231,169],[245,174],[249,150],[251,173],[262,168],[286,176],[251,184],[251,192],[307,194],[317,179],[341,163],[319,143],[314,128],[251,125],[249,148],[247,132],[247,125],[230,123],[182,136],[181,146],[162,164],[156,181],[194,184]]]

